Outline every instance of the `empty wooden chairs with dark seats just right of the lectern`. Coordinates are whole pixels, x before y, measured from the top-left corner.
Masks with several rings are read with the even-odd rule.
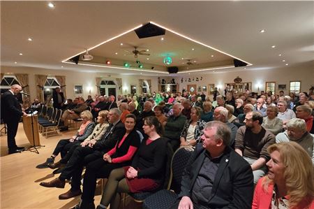
[[[62,116],[62,110],[47,106],[42,106],[39,110],[38,125],[39,132],[45,136],[61,135],[58,127]]]

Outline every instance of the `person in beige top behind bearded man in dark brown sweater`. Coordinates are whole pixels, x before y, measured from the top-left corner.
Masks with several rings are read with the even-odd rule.
[[[267,107],[267,117],[263,118],[262,127],[277,135],[283,131],[283,121],[276,117],[278,115],[278,108],[276,106]]]

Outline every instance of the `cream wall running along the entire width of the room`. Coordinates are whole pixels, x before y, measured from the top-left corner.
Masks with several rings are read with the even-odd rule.
[[[35,74],[41,75],[66,75],[66,94],[67,98],[74,97],[74,85],[83,85],[83,97],[86,99],[89,95],[89,89],[91,95],[96,94],[96,78],[122,78],[122,91],[123,94],[130,93],[130,85],[137,85],[137,92],[140,88],[139,79],[151,79],[151,92],[158,92],[158,77],[154,76],[142,76],[142,75],[120,75],[114,73],[79,73],[75,71],[55,71],[50,69],[36,69],[30,67],[11,67],[1,66],[1,73],[28,73],[29,74],[29,87],[31,92],[31,100],[36,97],[36,83]],[[265,89],[265,82],[276,82],[276,92],[278,92],[278,84],[285,84],[287,89],[285,93],[289,91],[290,81],[301,80],[301,92],[308,91],[311,86],[314,86],[314,67],[313,62],[299,65],[299,66],[287,66],[282,69],[260,70],[260,71],[236,71],[227,73],[190,73],[177,74],[173,77],[177,83],[179,83],[179,90],[186,89],[188,84],[196,84],[197,86],[203,86],[214,84],[216,87],[220,86],[220,92],[223,92],[225,83],[233,82],[234,78],[239,76],[242,78],[242,82],[252,82],[253,92],[258,92],[257,85],[260,86],[260,91]],[[203,77],[199,82],[185,82],[187,78],[199,78]],[[167,81],[170,81],[172,77],[160,77]],[[181,78],[184,78],[184,82],[181,83]]]

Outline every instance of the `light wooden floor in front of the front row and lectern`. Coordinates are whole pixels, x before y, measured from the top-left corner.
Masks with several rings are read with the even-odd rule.
[[[1,128],[3,125],[1,125]],[[39,154],[33,151],[8,154],[6,135],[1,135],[1,209],[44,209],[44,208],[72,208],[80,201],[80,196],[68,200],[59,200],[59,194],[67,192],[70,185],[66,184],[64,189],[46,188],[39,185],[42,181],[50,181],[57,178],[59,174],[52,174],[50,168],[36,168],[36,165],[45,162],[50,157],[54,147],[61,138],[70,138],[75,131],[67,131],[62,136],[45,138],[40,135],[41,145]],[[29,141],[24,134],[22,123],[19,124],[16,142],[18,146],[30,147]],[[57,157],[59,160],[59,157]],[[98,187],[95,196],[95,205],[100,202],[101,189]],[[128,200],[125,208],[141,208],[138,203]]]

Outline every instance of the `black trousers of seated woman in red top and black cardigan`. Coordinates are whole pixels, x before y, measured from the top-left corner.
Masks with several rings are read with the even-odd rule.
[[[98,178],[108,178],[111,171],[116,168],[121,168],[123,166],[129,165],[130,162],[125,162],[121,164],[110,164],[103,160],[103,156],[94,161],[90,161],[85,170],[84,180],[83,180],[83,194],[81,199],[87,203],[94,201],[96,181]],[[79,185],[80,186],[80,185]],[[77,186],[75,186],[77,187]]]

